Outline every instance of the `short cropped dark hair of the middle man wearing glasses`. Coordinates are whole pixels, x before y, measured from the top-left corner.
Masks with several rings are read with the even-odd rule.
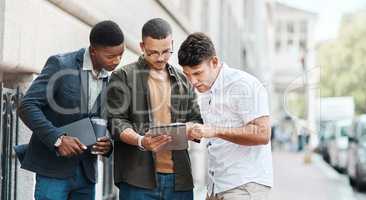
[[[150,19],[142,27],[142,40],[146,37],[161,40],[171,34],[172,28],[169,23],[161,18]]]

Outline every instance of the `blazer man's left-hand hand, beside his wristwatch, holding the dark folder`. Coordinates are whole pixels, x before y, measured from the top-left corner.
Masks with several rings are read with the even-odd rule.
[[[57,147],[58,153],[63,157],[80,155],[86,149],[87,147],[83,145],[78,138],[71,136],[63,136],[61,145]]]

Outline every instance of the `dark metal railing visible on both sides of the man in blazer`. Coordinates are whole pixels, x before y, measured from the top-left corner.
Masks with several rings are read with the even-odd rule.
[[[18,144],[19,117],[16,112],[21,98],[19,89],[8,89],[0,82],[0,199],[16,200],[18,162],[13,147]],[[103,200],[116,200],[113,183],[113,157],[103,159]]]

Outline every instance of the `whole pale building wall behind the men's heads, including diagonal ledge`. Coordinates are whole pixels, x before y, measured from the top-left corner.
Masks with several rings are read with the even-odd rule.
[[[1,69],[39,72],[49,55],[86,47],[90,27],[104,19],[119,23],[126,35],[128,49],[138,54],[143,23],[153,17],[162,17],[173,27],[177,49],[188,28],[170,15],[177,9],[168,2],[162,7],[162,2],[5,0]],[[173,61],[177,61],[176,56]]]

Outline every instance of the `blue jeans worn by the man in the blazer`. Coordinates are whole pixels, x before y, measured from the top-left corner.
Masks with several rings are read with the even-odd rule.
[[[87,180],[81,166],[75,176],[59,179],[36,175],[35,200],[94,200],[95,184]]]

